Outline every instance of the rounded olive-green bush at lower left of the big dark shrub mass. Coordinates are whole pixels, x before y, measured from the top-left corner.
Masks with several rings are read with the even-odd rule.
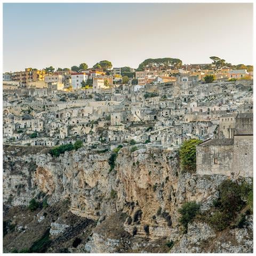
[[[227,212],[214,212],[209,218],[209,223],[215,230],[221,231],[230,225],[231,214]]]

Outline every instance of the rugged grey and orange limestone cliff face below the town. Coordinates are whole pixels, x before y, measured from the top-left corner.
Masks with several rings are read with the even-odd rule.
[[[97,223],[69,252],[252,252],[250,225],[217,234],[193,222],[188,234],[181,232],[179,207],[196,201],[209,210],[227,177],[181,173],[177,153],[156,148],[124,147],[110,171],[110,154],[80,148],[55,158],[44,148],[5,146],[4,204],[27,205],[38,194],[50,205],[68,199],[67,212]],[[54,222],[50,234],[61,236],[58,228],[68,224]]]

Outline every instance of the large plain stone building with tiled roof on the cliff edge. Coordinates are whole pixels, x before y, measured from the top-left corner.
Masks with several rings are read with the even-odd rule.
[[[236,116],[234,139],[208,139],[196,146],[196,173],[253,176],[253,114]]]

